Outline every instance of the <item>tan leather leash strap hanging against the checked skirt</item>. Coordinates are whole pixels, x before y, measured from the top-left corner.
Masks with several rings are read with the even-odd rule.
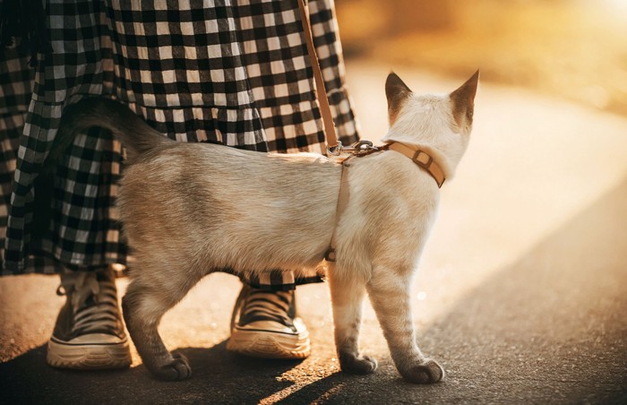
[[[300,9],[300,18],[303,22],[303,31],[305,34],[305,42],[307,43],[307,52],[309,60],[314,70],[315,89],[318,93],[318,103],[320,104],[320,112],[322,114],[322,125],[324,126],[324,134],[327,141],[327,154],[333,151],[339,145],[338,135],[335,133],[335,125],[333,124],[333,116],[331,116],[331,106],[327,98],[327,90],[324,89],[324,80],[322,79],[322,71],[318,56],[315,54],[314,37],[312,27],[309,22],[309,12],[305,6],[305,0],[298,0],[298,8]]]

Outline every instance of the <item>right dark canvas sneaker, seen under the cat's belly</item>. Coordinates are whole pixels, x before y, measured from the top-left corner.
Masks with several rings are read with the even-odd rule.
[[[294,290],[263,291],[244,286],[231,318],[227,349],[255,358],[306,358],[309,332],[296,317]]]

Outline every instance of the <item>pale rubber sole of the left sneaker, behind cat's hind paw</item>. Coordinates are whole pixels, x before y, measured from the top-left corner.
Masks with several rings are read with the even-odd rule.
[[[131,366],[128,341],[112,344],[71,345],[49,340],[46,362],[56,368],[109,370]]]

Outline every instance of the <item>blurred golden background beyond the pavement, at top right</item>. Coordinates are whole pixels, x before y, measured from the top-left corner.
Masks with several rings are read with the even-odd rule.
[[[627,0],[337,0],[347,61],[520,86],[627,114]]]

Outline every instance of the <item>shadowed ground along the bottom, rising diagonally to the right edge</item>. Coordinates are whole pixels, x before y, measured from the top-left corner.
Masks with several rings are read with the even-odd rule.
[[[225,342],[181,349],[193,378],[161,383],[143,366],[58,371],[44,366],[46,349],[39,347],[0,365],[1,401],[625,403],[626,224],[627,179],[460,298],[420,333],[421,347],[448,372],[442,383],[404,383],[389,357],[380,358],[376,374],[353,376],[316,363],[319,354],[303,363],[241,358]],[[300,376],[306,362],[323,373]]]

